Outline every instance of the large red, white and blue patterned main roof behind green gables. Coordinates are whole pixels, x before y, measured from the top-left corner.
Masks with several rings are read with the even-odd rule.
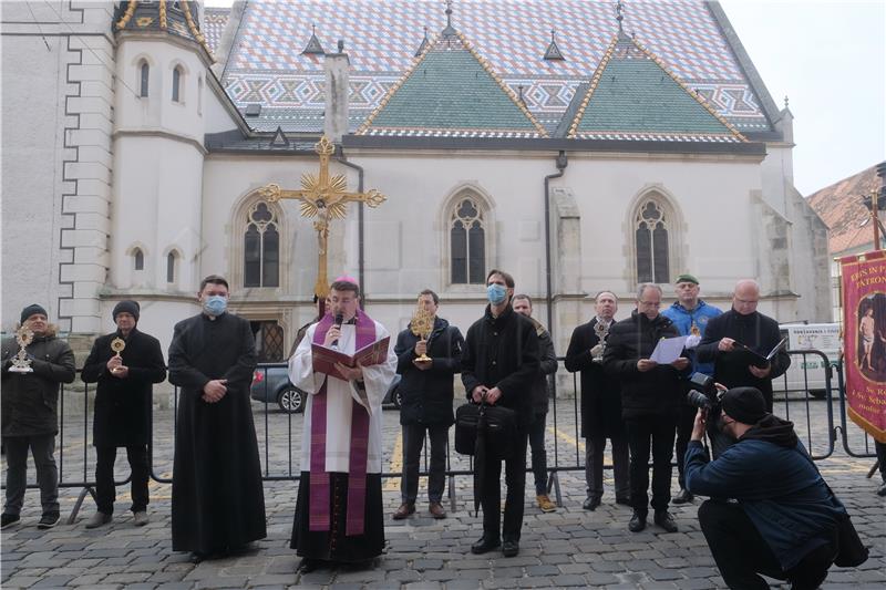
[[[628,0],[625,6],[625,30],[636,33],[719,115],[742,132],[772,131],[703,0]],[[442,30],[445,14],[437,0],[250,1],[223,79],[238,106],[261,103],[261,118],[278,108],[296,118],[302,111],[323,110],[323,59],[301,54],[315,24],[323,46],[346,42],[350,107],[359,122],[409,70],[423,28]],[[454,24],[514,94],[523,86],[526,106],[549,133],[577,86],[591,79],[617,31],[612,2],[588,0],[463,0],[454,6]],[[552,29],[562,61],[544,59]],[[265,127],[272,131],[278,124],[279,117]],[[291,124],[301,126],[296,120]],[[284,123],[284,128],[290,127]]]

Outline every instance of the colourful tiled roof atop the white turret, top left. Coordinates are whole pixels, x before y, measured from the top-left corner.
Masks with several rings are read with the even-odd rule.
[[[159,31],[198,43],[212,60],[213,52],[197,22],[197,6],[188,0],[127,0],[114,13],[114,31]]]

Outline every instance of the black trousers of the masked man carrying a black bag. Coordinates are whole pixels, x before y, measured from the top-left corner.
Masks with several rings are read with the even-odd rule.
[[[483,474],[483,535],[490,539],[519,540],[523,528],[524,494],[526,491],[526,443],[527,433],[524,426],[517,432],[514,454],[505,460],[505,518],[502,524],[502,462],[486,459]],[[498,528],[502,528],[501,535]]]

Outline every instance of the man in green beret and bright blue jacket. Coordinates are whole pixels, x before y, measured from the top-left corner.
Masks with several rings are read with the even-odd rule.
[[[704,337],[704,329],[708,321],[717,318],[723,311],[720,308],[709,306],[699,298],[699,280],[690,273],[683,273],[673,281],[673,290],[677,301],[661,312],[677,327],[680,335],[689,337],[686,342],[686,351],[689,360],[692,361],[692,373],[704,373],[713,375],[713,363],[700,363],[696,355],[696,346]],[[690,375],[692,374],[690,373]],[[680,491],[674,496],[673,504],[687,504],[692,501],[692,494],[686,488],[683,469],[683,456],[689,444],[689,436],[692,434],[692,424],[696,420],[696,407],[686,400],[686,394],[692,389],[688,380],[682,380],[682,400],[680,402],[680,415],[677,418],[677,479],[680,484]]]

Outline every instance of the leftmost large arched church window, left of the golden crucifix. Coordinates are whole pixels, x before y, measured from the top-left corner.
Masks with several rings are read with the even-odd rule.
[[[244,287],[280,286],[278,220],[266,203],[256,203],[247,214],[243,276]]]

